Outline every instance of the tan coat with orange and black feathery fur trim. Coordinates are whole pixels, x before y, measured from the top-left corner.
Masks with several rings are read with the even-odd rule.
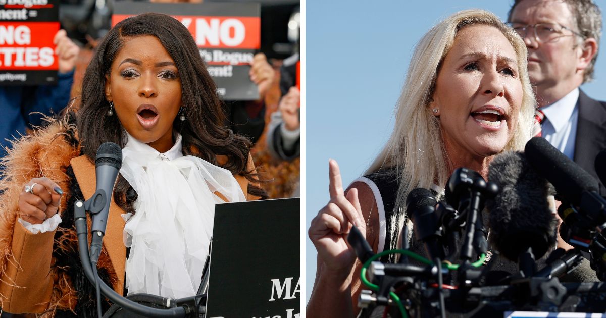
[[[54,316],[55,310],[73,311],[78,301],[70,277],[52,265],[53,248],[77,248],[75,230],[62,229],[55,239],[55,231],[32,234],[19,222],[19,194],[32,178],[48,177],[62,188],[65,194],[70,189],[70,178],[65,173],[71,164],[85,199],[95,192],[95,165],[85,156],[79,156],[75,139],[75,126],[59,120],[33,136],[23,137],[4,159],[5,179],[0,181],[0,306],[8,313],[44,313]],[[219,162],[225,159],[218,157]],[[221,160],[223,159],[223,160]],[[254,168],[249,157],[249,168]],[[247,198],[248,181],[235,176]],[[67,199],[61,199],[61,211],[67,208]],[[110,205],[107,231],[103,250],[99,257],[99,268],[110,274],[114,290],[122,294],[126,248],[122,243],[124,213],[113,202]],[[90,226],[90,224],[89,224]]]

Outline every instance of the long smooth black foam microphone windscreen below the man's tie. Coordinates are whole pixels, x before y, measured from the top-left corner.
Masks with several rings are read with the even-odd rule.
[[[524,148],[524,153],[534,170],[551,182],[558,194],[571,204],[579,205],[584,190],[598,191],[598,181],[553,147],[547,139],[542,137],[530,139]]]

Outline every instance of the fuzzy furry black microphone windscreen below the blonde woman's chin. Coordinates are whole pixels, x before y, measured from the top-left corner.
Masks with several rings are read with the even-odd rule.
[[[547,196],[551,185],[533,170],[523,153],[502,153],[494,157],[488,180],[499,186],[488,199],[490,242],[507,259],[518,262],[528,248],[536,259],[556,243],[557,220]]]

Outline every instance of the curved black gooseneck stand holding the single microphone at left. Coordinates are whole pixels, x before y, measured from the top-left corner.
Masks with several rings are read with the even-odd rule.
[[[107,197],[105,197],[104,199],[107,199]],[[86,212],[90,211],[93,205],[94,202],[90,199],[86,202],[78,200],[74,204],[76,233],[78,233],[78,250],[80,252],[80,260],[82,263],[82,267],[84,268],[84,273],[86,274],[88,280],[90,280],[90,282],[92,282],[93,284],[98,282],[101,287],[101,293],[105,297],[112,300],[113,303],[120,306],[121,308],[124,308],[127,311],[131,311],[132,313],[140,314],[145,317],[198,317],[199,306],[193,305],[193,303],[198,303],[199,305],[199,302],[201,302],[202,299],[205,299],[205,296],[193,296],[185,299],[175,300],[171,299],[170,297],[159,297],[149,295],[151,297],[161,299],[161,303],[164,303],[167,307],[171,307],[168,309],[151,308],[133,302],[132,300],[121,296],[120,294],[116,293],[111,287],[107,286],[107,284],[105,284],[105,282],[99,279],[98,276],[93,274],[93,268],[90,263],[90,256],[87,246],[88,226],[86,222]]]

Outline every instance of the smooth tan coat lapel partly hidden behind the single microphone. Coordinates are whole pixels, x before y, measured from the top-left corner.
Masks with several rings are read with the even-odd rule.
[[[86,156],[75,157],[70,163],[72,164],[74,174],[76,175],[84,199],[90,199],[95,193],[96,188],[95,164],[90,162]],[[126,262],[126,247],[122,240],[122,231],[124,231],[125,222],[124,219],[122,219],[122,213],[124,213],[124,211],[116,205],[112,196],[103,245],[110,257],[116,275],[118,276],[118,282],[116,282],[116,286],[114,286],[114,290],[118,294],[123,294],[124,267]]]

